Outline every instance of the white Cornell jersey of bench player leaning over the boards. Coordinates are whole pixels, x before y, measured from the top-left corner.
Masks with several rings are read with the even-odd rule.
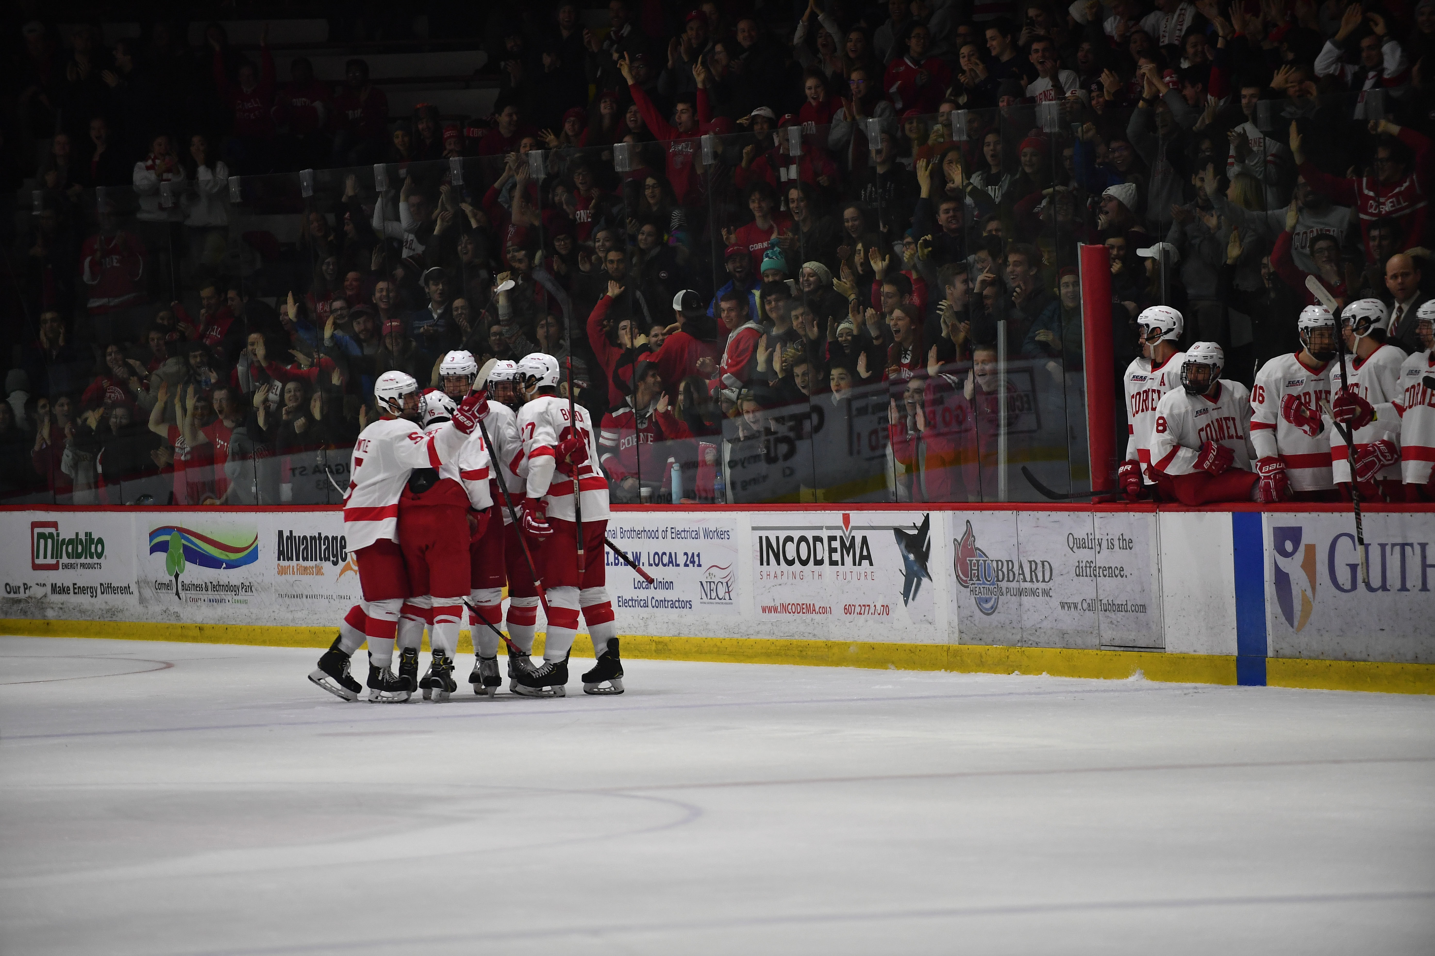
[[[1184,388],[1174,388],[1161,398],[1152,429],[1152,467],[1172,477],[1191,474],[1197,470],[1195,457],[1201,446],[1214,441],[1236,453],[1233,469],[1251,470],[1250,393],[1230,378],[1221,378],[1220,386],[1214,400],[1188,396]]]

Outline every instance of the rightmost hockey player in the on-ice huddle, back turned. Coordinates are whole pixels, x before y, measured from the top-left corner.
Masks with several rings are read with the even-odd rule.
[[[598,658],[583,675],[583,689],[621,694],[623,666],[603,552],[608,483],[597,467],[597,430],[583,406],[558,397],[558,361],[552,355],[525,355],[518,363],[518,376],[527,397],[518,410],[518,437],[528,466],[522,530],[530,540],[541,542],[538,560],[548,595],[548,634],[542,665],[518,671],[515,692],[530,697],[565,692],[568,652],[581,608]],[[581,548],[575,505],[581,506]]]

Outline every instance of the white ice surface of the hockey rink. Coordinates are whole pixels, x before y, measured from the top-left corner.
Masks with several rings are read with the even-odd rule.
[[[1435,952],[1429,698],[317,654],[0,638],[0,952]]]

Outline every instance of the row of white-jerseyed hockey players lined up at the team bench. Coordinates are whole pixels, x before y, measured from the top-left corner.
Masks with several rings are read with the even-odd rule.
[[[1220,345],[1181,351],[1181,312],[1152,305],[1125,374],[1121,492],[1181,505],[1435,500],[1432,320],[1435,301],[1416,312],[1422,350],[1406,355],[1379,300],[1350,302],[1339,324],[1307,305],[1300,351],[1261,365],[1247,391],[1221,378]]]

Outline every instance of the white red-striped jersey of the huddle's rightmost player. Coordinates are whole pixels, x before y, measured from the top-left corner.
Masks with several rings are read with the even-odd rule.
[[[573,406],[577,429],[588,446],[588,460],[578,467],[578,492],[583,494],[583,520],[607,520],[608,480],[598,470],[597,429],[588,417],[588,410]],[[574,520],[573,476],[557,467],[554,450],[571,434],[568,400],[557,396],[540,396],[518,410],[518,437],[522,441],[527,463],[528,497],[547,497],[548,517],[564,522]]]

